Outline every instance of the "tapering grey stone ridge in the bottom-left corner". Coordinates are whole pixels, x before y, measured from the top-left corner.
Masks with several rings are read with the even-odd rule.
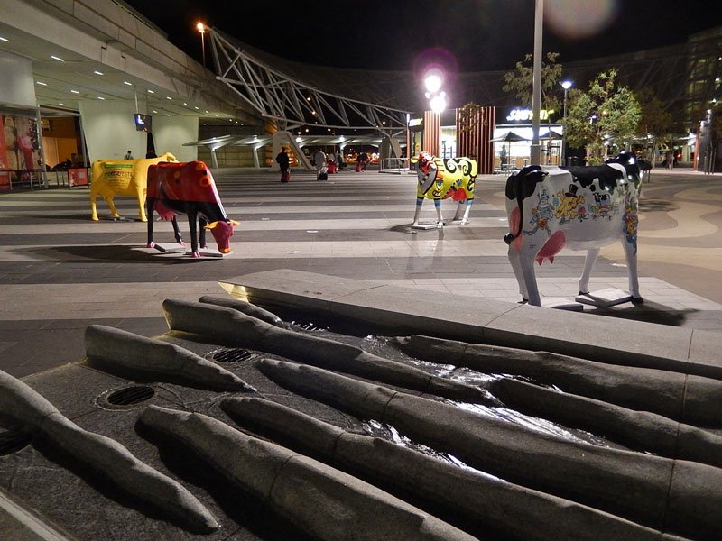
[[[0,416],[23,425],[183,527],[206,533],[219,527],[216,518],[180,483],[139,461],[115,440],[88,432],[63,417],[38,392],[4,371],[0,371]]]

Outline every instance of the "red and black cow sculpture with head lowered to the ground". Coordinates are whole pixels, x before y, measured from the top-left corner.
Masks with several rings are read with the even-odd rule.
[[[199,243],[206,244],[206,229],[218,243],[218,252],[231,251],[228,241],[233,235],[231,220],[221,205],[213,175],[202,161],[158,163],[148,168],[148,188],[145,199],[148,215],[148,248],[153,248],[153,211],[163,220],[171,220],[176,242],[183,244],[175,213],[188,215],[190,245],[193,257],[200,257]],[[200,224],[199,234],[197,225]]]

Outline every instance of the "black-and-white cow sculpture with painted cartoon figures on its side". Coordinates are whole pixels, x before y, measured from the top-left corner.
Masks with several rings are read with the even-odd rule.
[[[625,250],[632,302],[643,302],[637,279],[639,167],[634,154],[620,153],[604,165],[523,168],[506,181],[509,244],[519,292],[541,306],[534,261],[554,261],[564,246],[587,250],[579,293],[589,292],[589,275],[599,249],[616,240]]]

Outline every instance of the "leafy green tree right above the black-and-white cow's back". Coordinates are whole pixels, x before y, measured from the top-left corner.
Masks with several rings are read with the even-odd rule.
[[[622,149],[634,137],[641,117],[629,87],[616,84],[616,69],[597,75],[588,90],[572,90],[564,130],[572,147],[586,147],[589,163],[602,163],[606,147]]]

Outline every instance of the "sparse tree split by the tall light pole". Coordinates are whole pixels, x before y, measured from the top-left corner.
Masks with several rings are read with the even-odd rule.
[[[560,78],[564,71],[561,64],[557,64],[558,52],[548,52],[547,61],[542,61],[542,109],[547,111],[559,111],[560,99]],[[516,62],[516,71],[504,73],[504,92],[514,92],[525,107],[532,106],[534,81],[533,56],[527,54],[524,60]]]

